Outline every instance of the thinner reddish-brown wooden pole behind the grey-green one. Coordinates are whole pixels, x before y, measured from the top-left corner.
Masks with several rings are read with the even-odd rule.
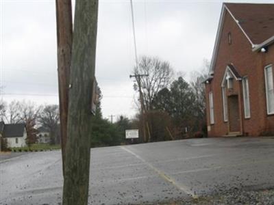
[[[73,17],[71,0],[55,0],[58,44],[58,83],[62,164],[64,174],[66,127],[69,107],[69,74],[71,70],[71,48],[73,42]]]

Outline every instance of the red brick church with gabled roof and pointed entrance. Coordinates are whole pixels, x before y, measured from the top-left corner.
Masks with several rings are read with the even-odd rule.
[[[206,80],[209,137],[274,135],[274,4],[223,3]]]

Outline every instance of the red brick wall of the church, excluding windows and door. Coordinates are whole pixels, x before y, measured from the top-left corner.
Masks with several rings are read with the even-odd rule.
[[[232,33],[232,44],[228,44],[228,33]],[[216,64],[214,66],[214,79],[206,85],[206,100],[208,108],[208,92],[213,91],[214,125],[208,132],[210,137],[226,135],[227,122],[223,121],[223,98],[221,81],[227,64],[233,64],[241,77],[247,76],[249,80],[249,100],[251,118],[245,119],[242,101],[242,83],[235,81],[233,94],[238,94],[240,109],[240,126],[242,135],[262,135],[271,129],[274,131],[274,115],[266,115],[266,96],[264,87],[264,66],[274,63],[274,46],[268,53],[253,52],[250,42],[240,30],[232,16],[225,12],[223,29],[221,31],[219,49],[216,51]],[[227,92],[227,94],[229,94]],[[207,111],[208,125],[209,112]]]

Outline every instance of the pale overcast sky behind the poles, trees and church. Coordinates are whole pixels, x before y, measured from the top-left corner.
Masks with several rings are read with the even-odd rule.
[[[3,100],[58,103],[55,0],[0,0]],[[273,1],[231,1],[273,2]],[[211,59],[223,1],[134,1],[137,52],[190,73]],[[74,3],[73,3],[74,5]],[[99,1],[96,77],[103,116],[136,113],[129,0]],[[4,94],[3,94],[4,93]]]

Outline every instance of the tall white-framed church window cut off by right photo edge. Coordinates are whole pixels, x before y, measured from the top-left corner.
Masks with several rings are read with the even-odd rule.
[[[272,65],[264,68],[264,78],[266,85],[266,108],[267,114],[274,113],[274,90],[273,90],[273,70]]]

